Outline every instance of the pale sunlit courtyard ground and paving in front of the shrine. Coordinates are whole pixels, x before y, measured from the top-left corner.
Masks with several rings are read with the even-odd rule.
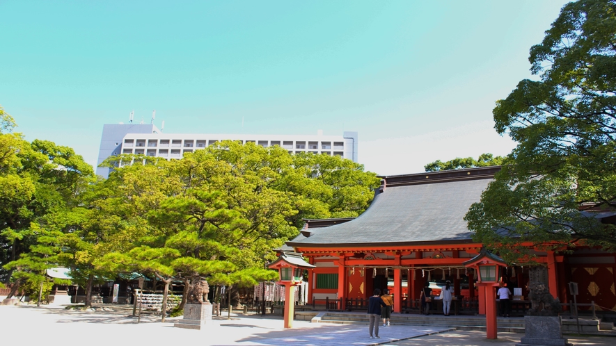
[[[518,333],[499,333],[486,340],[485,333],[452,331],[439,327],[381,327],[381,339],[370,339],[368,326],[294,321],[283,329],[280,317],[232,315],[216,318],[203,331],[174,328],[177,318],[160,322],[160,316],[143,314],[141,322],[129,306],[98,306],[94,311],[72,311],[63,306],[0,306],[0,326],[5,335],[24,343],[45,346],[86,345],[514,345]],[[226,315],[224,316],[226,317]],[[576,345],[616,345],[616,338],[570,338]]]

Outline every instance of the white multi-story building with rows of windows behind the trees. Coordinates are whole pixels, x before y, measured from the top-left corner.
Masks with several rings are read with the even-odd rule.
[[[161,158],[182,158],[184,153],[219,142],[238,140],[254,142],[262,147],[278,145],[290,154],[312,152],[315,154],[338,155],[357,162],[357,132],[345,131],[342,135],[225,135],[225,134],[184,134],[161,133],[152,124],[105,124],[98,163],[109,156],[120,154],[143,154]],[[106,178],[110,169],[97,167],[96,174]]]

